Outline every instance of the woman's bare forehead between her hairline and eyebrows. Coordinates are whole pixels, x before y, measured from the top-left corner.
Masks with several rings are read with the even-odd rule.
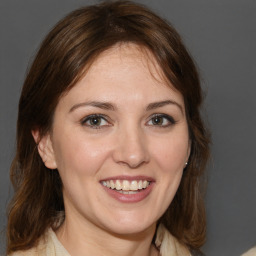
[[[122,43],[101,53],[61,101],[96,98],[129,104],[163,100],[168,95],[183,104],[183,97],[165,79],[153,54],[146,47]]]

